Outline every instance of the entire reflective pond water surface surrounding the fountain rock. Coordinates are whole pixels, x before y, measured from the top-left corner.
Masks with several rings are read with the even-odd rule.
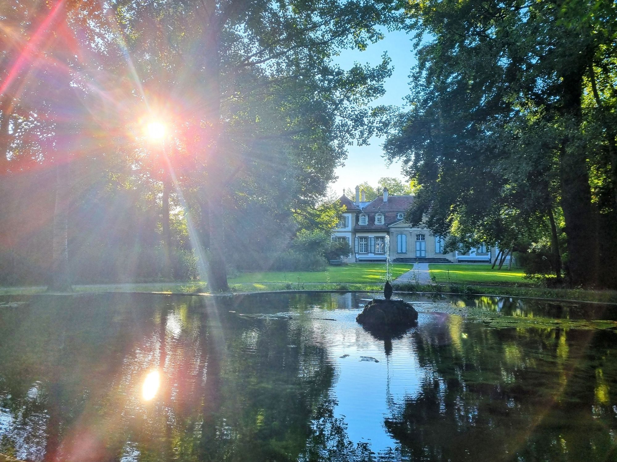
[[[0,453],[617,460],[617,307],[409,296],[418,326],[377,339],[370,298],[0,298]]]

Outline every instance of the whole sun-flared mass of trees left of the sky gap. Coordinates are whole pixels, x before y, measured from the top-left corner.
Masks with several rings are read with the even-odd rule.
[[[0,283],[322,267],[325,197],[378,128],[388,1],[0,4]],[[154,137],[147,128],[164,127]],[[152,135],[152,133],[150,134]],[[156,138],[156,139],[155,139]],[[327,239],[326,239],[327,237]]]

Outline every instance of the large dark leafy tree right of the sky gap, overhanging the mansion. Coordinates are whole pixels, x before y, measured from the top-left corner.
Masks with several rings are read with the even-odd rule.
[[[406,11],[418,27],[412,109],[386,149],[424,190],[415,216],[441,208],[446,225],[434,213],[431,226],[447,231],[463,214],[489,213],[495,197],[507,203],[513,191],[527,211],[549,216],[560,206],[570,283],[615,285],[599,268],[600,257],[612,259],[600,248],[615,243],[607,232],[616,210],[608,206],[617,186],[614,139],[606,124],[595,140],[607,155],[592,155],[583,111],[584,95],[593,94],[586,79],[600,69],[614,75],[611,3],[431,1],[410,2]],[[421,42],[422,34],[434,39]],[[600,80],[606,113],[614,87]],[[598,211],[597,203],[607,206]]]

